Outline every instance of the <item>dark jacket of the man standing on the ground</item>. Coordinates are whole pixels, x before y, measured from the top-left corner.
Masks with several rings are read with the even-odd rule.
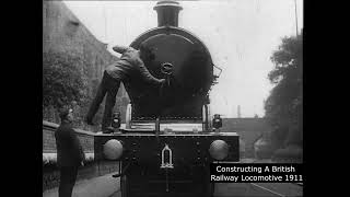
[[[58,166],[79,166],[85,160],[83,149],[71,124],[62,123],[55,132]]]

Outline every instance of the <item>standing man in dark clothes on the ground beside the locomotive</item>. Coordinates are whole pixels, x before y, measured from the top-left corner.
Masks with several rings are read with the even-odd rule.
[[[62,107],[59,117],[61,124],[55,132],[57,165],[60,170],[58,196],[71,197],[78,175],[78,169],[80,165],[84,165],[85,154],[75,131],[72,128],[72,109]]]

